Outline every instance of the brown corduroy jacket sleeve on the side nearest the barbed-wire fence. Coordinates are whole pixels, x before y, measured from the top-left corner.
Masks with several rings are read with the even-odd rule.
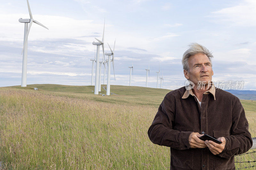
[[[249,124],[242,103],[237,97],[234,98],[233,103],[231,135],[225,137],[225,148],[218,154],[227,159],[245,153],[252,147],[252,136],[248,131]]]

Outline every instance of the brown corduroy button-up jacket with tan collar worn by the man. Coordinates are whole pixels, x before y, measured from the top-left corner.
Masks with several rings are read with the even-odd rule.
[[[190,148],[191,132],[225,137],[224,150],[214,155],[207,147]],[[214,85],[204,92],[201,107],[191,89],[182,87],[169,92],[148,129],[148,137],[154,144],[170,147],[172,170],[233,170],[234,155],[252,147],[240,100]]]

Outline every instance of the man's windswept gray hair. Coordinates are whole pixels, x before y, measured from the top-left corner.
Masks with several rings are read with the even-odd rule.
[[[189,57],[191,57],[192,55],[195,55],[195,54],[205,54],[208,59],[210,60],[210,63],[211,63],[211,67],[212,67],[212,58],[213,58],[213,55],[212,55],[212,52],[210,52],[206,47],[200,45],[200,44],[197,44],[197,43],[191,43],[188,45],[189,48],[187,51],[185,51],[185,53],[183,54],[182,56],[182,65],[183,65],[183,70],[187,70],[189,72],[189,66],[188,66],[188,59]]]

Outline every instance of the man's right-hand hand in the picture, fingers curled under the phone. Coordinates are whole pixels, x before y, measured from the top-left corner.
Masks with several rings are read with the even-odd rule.
[[[210,151],[214,155],[217,155],[217,154],[221,153],[223,151],[223,149],[225,148],[226,139],[224,137],[221,137],[221,138],[218,138],[218,140],[222,143],[217,144],[217,143],[215,143],[211,140],[204,141],[205,145],[207,145],[207,147],[210,149]]]

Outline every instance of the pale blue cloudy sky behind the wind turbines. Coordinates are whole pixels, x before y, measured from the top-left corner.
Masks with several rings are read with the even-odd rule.
[[[105,52],[110,52],[107,43],[113,49],[116,39],[116,81],[111,67],[111,85],[129,85],[128,67],[133,62],[132,86],[146,86],[149,65],[148,87],[156,88],[159,64],[162,88],[184,86],[181,58],[188,44],[196,42],[212,51],[215,86],[222,83],[222,89],[235,89],[238,82],[242,90],[256,90],[254,0],[29,0],[29,4],[33,18],[49,30],[35,23],[31,27],[27,84],[91,85],[90,59],[96,47],[92,42],[102,39],[105,18]],[[26,0],[1,2],[0,18],[0,87],[20,85],[24,23],[18,20],[29,18]]]

